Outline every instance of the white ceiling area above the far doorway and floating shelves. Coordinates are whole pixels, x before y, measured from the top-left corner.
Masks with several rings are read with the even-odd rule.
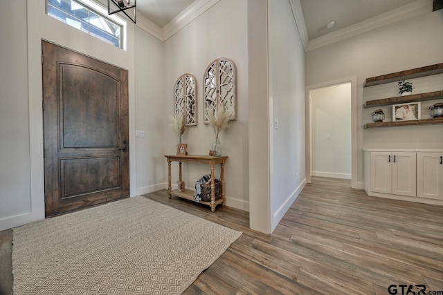
[[[300,0],[309,40],[352,26],[415,0]],[[327,28],[329,21],[335,26]]]

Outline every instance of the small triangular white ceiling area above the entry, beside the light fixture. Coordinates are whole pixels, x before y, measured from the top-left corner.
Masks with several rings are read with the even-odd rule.
[[[160,28],[185,10],[195,0],[137,0],[137,13]]]

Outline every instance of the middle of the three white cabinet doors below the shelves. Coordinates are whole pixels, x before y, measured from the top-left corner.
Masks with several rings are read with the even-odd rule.
[[[392,193],[395,195],[417,196],[416,153],[394,152],[392,162]]]

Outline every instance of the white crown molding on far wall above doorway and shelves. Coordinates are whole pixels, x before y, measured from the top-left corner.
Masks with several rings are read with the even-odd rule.
[[[370,30],[381,28],[391,23],[396,23],[397,21],[403,21],[412,17],[425,15],[426,13],[432,12],[432,3],[433,0],[417,0],[413,3],[409,3],[405,6],[401,6],[381,15],[377,15],[376,17],[371,17],[365,21],[355,23],[352,26],[347,26],[341,30],[330,32],[327,35],[308,41],[305,51],[327,46],[329,44],[363,34],[364,32],[369,32]]]

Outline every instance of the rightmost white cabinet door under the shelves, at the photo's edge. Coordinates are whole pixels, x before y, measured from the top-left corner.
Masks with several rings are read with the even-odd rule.
[[[417,197],[443,200],[443,153],[417,153]]]

